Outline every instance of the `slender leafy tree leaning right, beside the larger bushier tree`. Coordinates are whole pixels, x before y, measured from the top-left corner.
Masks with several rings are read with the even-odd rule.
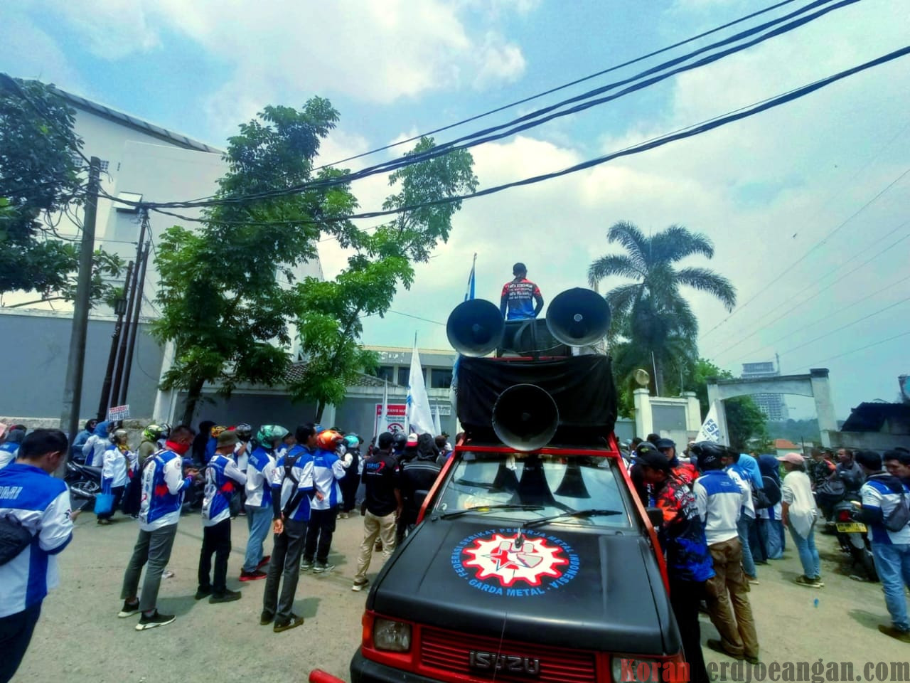
[[[433,147],[432,139],[421,138],[405,157]],[[399,191],[386,199],[383,208],[398,209],[471,192],[477,189],[472,167],[470,153],[460,150],[400,168],[389,176],[389,185]],[[360,318],[384,315],[398,285],[410,288],[412,263],[426,262],[439,240],[448,240],[451,218],[460,206],[460,201],[452,201],[406,211],[371,235],[351,236],[357,252],[338,278],[330,282],[309,279],[298,285],[298,329],[308,367],[291,391],[297,400],[317,403],[316,420],[322,419],[327,403],[340,403],[346,386],[359,372],[376,365],[375,354],[359,347]]]

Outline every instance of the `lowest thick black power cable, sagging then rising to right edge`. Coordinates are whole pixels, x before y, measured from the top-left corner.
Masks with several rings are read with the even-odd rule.
[[[756,114],[760,114],[769,109],[773,109],[774,107],[780,107],[781,105],[788,104],[789,102],[792,102],[796,99],[810,95],[810,94],[814,93],[816,90],[820,90],[824,87],[830,86],[831,84],[833,84],[839,80],[843,80],[844,78],[847,78],[849,76],[854,76],[855,74],[858,74],[862,71],[873,68],[875,66],[880,66],[882,64],[890,62],[899,57],[906,56],[907,54],[910,54],[910,46],[902,47],[898,50],[895,50],[894,52],[890,52],[886,55],[876,57],[873,60],[864,62],[864,64],[854,66],[849,69],[845,69],[844,71],[840,71],[832,76],[827,76],[825,78],[821,78],[821,79],[816,80],[813,83],[807,84],[803,87],[794,88],[793,90],[790,90],[782,95],[766,98],[752,106],[741,107],[740,109],[736,109],[733,112],[729,112],[723,116],[714,117],[712,119],[703,121],[701,124],[682,128],[681,130],[674,132],[672,134],[664,135],[659,138],[652,138],[652,140],[641,143],[639,145],[635,145],[630,148],[625,148],[618,152],[613,152],[612,154],[607,154],[602,157],[592,158],[587,161],[583,161],[579,164],[575,164],[574,166],[571,166],[569,168],[563,168],[559,171],[553,171],[551,173],[545,173],[545,174],[541,174],[539,176],[532,176],[531,178],[523,178],[521,180],[514,180],[512,182],[504,183],[502,185],[497,185],[497,186],[493,186],[493,187],[486,188],[486,189],[480,189],[480,190],[477,190],[470,194],[454,195],[451,197],[432,199],[430,201],[420,202],[418,204],[406,205],[403,207],[398,207],[396,209],[385,209],[385,210],[379,210],[379,211],[369,211],[369,212],[359,213],[359,214],[349,214],[347,216],[329,217],[326,219],[322,219],[321,221],[283,220],[283,221],[255,223],[255,222],[248,222],[248,221],[240,220],[240,221],[218,221],[218,222],[223,223],[223,224],[237,223],[238,225],[272,225],[272,226],[276,226],[276,225],[299,226],[299,225],[303,225],[303,224],[317,223],[317,222],[330,224],[330,223],[337,223],[337,222],[353,220],[353,219],[374,219],[374,218],[380,218],[380,217],[384,217],[384,216],[392,216],[392,215],[404,213],[406,211],[411,211],[411,210],[415,210],[415,209],[425,209],[425,208],[428,208],[431,206],[438,206],[440,204],[448,204],[451,202],[463,201],[465,199],[486,197],[488,195],[496,194],[496,193],[501,192],[506,189],[524,187],[524,186],[528,186],[528,185],[534,185],[534,184],[542,182],[544,180],[551,180],[553,178],[561,178],[562,176],[566,176],[571,173],[576,173],[581,170],[586,170],[588,168],[594,168],[596,166],[600,166],[602,164],[607,163],[608,161],[612,161],[612,159],[615,159],[615,158],[629,157],[629,156],[632,156],[635,154],[641,154],[644,151],[648,151],[648,150],[654,149],[654,148],[660,148],[663,145],[669,144],[671,142],[676,142],[678,140],[682,140],[682,139],[686,139],[686,138],[693,138],[695,136],[702,135],[703,133],[713,130],[714,128],[723,127],[730,123],[738,121],[740,119],[752,117]],[[908,172],[910,172],[910,169],[907,169],[907,171],[905,171],[905,173],[902,174],[902,177],[903,177],[903,175],[906,175],[906,173],[908,173]],[[899,179],[900,178],[895,179],[894,182],[897,182],[897,180],[899,180]],[[892,184],[894,184],[894,183],[892,183]],[[890,186],[889,186],[889,188],[890,188]],[[885,188],[885,190],[882,190],[882,194],[884,194],[884,192],[887,189],[888,188]],[[870,200],[869,203],[871,203],[875,199],[877,199],[877,198]],[[152,209],[152,210],[158,211],[159,213],[163,213],[167,216],[175,217],[177,219],[183,219],[183,220],[188,220],[188,221],[193,221],[193,222],[205,222],[204,219],[193,219],[193,218],[190,218],[187,216],[181,216],[180,214],[166,211],[164,209],[158,209],[156,206],[152,206],[152,205],[144,205],[144,207],[146,207],[147,209]],[[844,224],[845,224],[845,222],[846,221],[844,221]],[[840,229],[840,227],[834,229],[831,234],[834,234],[834,232],[837,229]],[[829,237],[830,237],[830,235],[829,235]],[[808,256],[808,253],[810,253],[810,252],[807,252],[803,258],[805,258],[805,256]],[[797,261],[797,262],[799,262],[799,261]],[[757,297],[758,294],[756,294],[755,296]],[[738,310],[740,310],[740,309],[738,309]],[[735,312],[736,311],[734,311],[734,313]],[[722,321],[722,323],[718,323],[718,325],[715,326],[715,328],[713,328],[713,329],[716,329],[716,327],[720,326],[720,324],[723,324],[723,321]]]

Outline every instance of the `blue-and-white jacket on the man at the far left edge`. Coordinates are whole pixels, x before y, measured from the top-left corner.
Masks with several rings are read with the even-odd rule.
[[[0,617],[40,603],[59,583],[56,555],[73,538],[69,489],[31,464],[0,471],[0,517],[14,517],[33,535],[19,555],[0,566]]]

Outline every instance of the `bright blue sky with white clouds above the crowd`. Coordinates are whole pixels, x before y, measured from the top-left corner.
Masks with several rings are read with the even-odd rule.
[[[800,0],[764,17],[805,5]],[[0,71],[96,99],[223,145],[267,104],[328,97],[341,115],[320,161],[410,138],[561,86],[698,35],[771,0],[6,0]],[[753,19],[747,25],[755,25]],[[727,29],[719,36],[729,36]],[[480,189],[569,167],[746,107],[904,47],[906,0],[860,0],[741,53],[613,102],[473,148]],[[713,36],[712,40],[716,40]],[[558,93],[440,133],[444,142],[592,87],[632,76],[701,39]],[[864,401],[895,401],[910,373],[910,56],[783,107],[662,148],[522,189],[470,199],[448,243],[416,267],[363,342],[449,348],[444,323],[464,297],[498,301],[523,261],[546,300],[586,287],[591,260],[620,248],[610,226],[672,224],[706,235],[710,267],[737,306],[686,291],[699,351],[739,374],[826,367],[838,418]],[[346,163],[394,158],[399,147]],[[353,185],[379,209],[386,178]],[[173,199],[191,199],[175,197]],[[331,277],[348,254],[320,247]],[[600,291],[622,284],[603,280]],[[402,315],[407,314],[407,315]],[[409,316],[416,316],[409,317]],[[424,319],[424,320],[418,320]],[[898,336],[898,335],[904,336]],[[814,414],[789,396],[793,417]]]

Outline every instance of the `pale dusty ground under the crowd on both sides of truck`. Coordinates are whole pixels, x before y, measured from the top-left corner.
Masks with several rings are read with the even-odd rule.
[[[247,539],[243,517],[233,525],[228,586],[243,598],[223,605],[195,601],[202,527],[197,515],[180,520],[158,607],[177,614],[170,626],[137,632],[138,617],[119,619],[120,584],[136,540],[136,524],[117,515],[99,527],[94,515],[76,522],[76,538],[60,556],[61,585],[44,602],[35,637],[15,678],[21,683],[171,683],[172,681],[302,681],[312,668],[349,679],[350,657],[360,641],[367,592],[350,590],[363,526],[361,517],[339,520],[328,575],[301,576],[296,612],[306,623],[285,633],[258,623],[265,581],[239,583]],[[800,574],[792,544],[784,559],[759,567],[751,602],[762,647],[773,661],[853,662],[856,676],[867,661],[906,661],[910,647],[885,637],[888,623],[881,587],[851,580],[849,563],[834,536],[817,540],[825,587],[795,586]],[[267,552],[271,540],[267,542]],[[370,578],[379,570],[374,556]],[[440,592],[444,586],[440,586]],[[717,637],[702,617],[703,641]],[[731,662],[705,648],[710,662]],[[728,680],[731,678],[727,678]],[[857,680],[859,678],[856,678]]]

